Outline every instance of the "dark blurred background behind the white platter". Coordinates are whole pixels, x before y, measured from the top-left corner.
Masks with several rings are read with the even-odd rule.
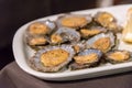
[[[132,0],[0,0],[0,69],[14,61],[12,38],[23,24],[52,14],[128,3]]]

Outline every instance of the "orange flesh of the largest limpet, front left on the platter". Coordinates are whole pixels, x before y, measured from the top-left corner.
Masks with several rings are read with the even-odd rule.
[[[41,62],[44,66],[54,67],[66,62],[69,53],[65,50],[58,48],[53,51],[47,51],[41,55]]]

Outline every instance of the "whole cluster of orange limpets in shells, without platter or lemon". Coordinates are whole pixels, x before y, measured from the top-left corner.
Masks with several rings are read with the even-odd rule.
[[[31,23],[24,43],[35,53],[28,64],[38,72],[57,73],[129,62],[131,52],[117,48],[117,34],[122,29],[107,11],[95,15],[69,13],[55,21]]]

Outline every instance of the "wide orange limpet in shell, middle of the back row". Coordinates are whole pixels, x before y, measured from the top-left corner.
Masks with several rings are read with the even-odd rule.
[[[90,15],[79,15],[79,14],[65,14],[57,19],[58,26],[73,28],[77,30],[78,28],[82,28],[86,24],[91,22]]]

